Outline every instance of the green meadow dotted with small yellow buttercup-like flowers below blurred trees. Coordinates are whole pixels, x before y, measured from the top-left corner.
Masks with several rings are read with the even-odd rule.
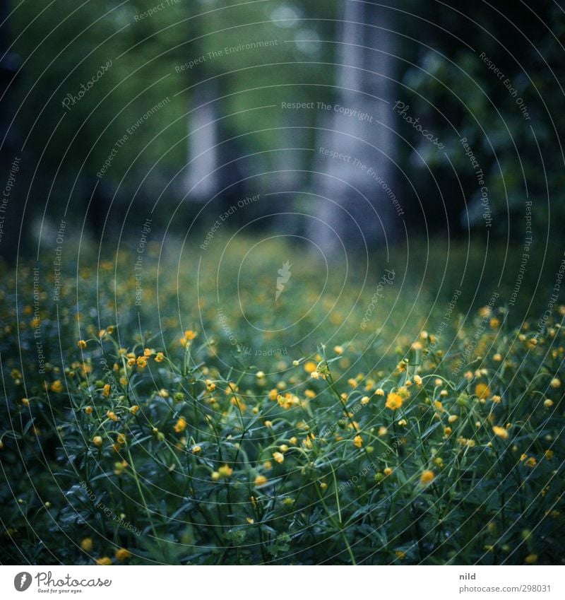
[[[453,250],[65,244],[1,266],[1,563],[562,563],[565,306]]]

